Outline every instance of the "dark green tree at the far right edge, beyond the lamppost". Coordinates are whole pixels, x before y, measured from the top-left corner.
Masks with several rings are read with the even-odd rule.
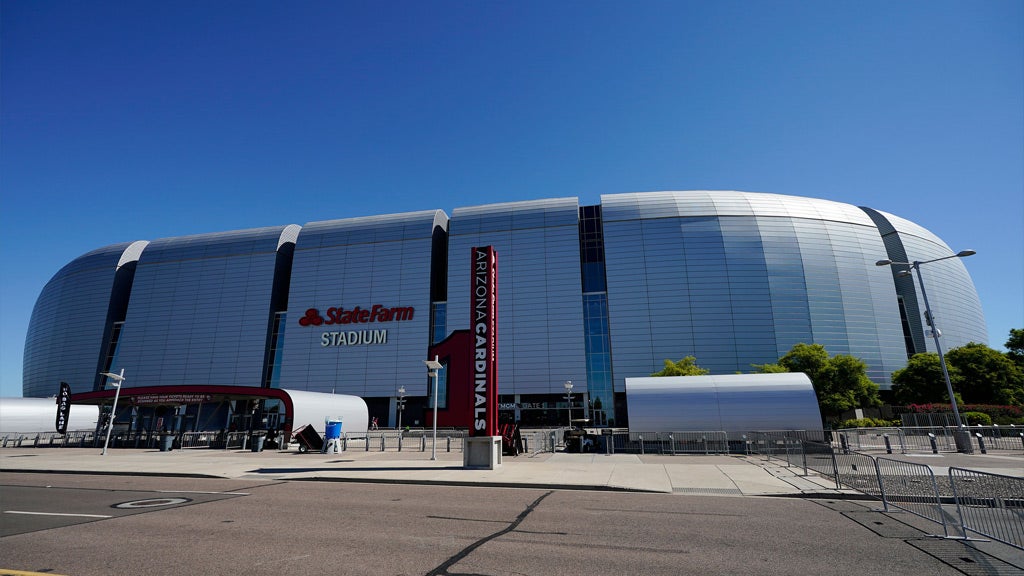
[[[968,404],[1024,405],[1024,372],[999,351],[970,342],[946,355],[964,377],[959,393]]]

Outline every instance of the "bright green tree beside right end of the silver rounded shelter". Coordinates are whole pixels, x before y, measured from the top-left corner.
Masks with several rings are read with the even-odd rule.
[[[879,385],[867,377],[867,365],[859,358],[841,354],[828,357],[821,344],[798,343],[778,359],[777,364],[762,364],[759,372],[803,372],[814,385],[818,407],[826,420],[837,420],[847,410],[881,406]]]

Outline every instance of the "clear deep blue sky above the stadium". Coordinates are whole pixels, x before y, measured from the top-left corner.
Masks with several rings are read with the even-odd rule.
[[[94,248],[605,193],[892,212],[1024,327],[1020,0],[2,0],[0,43],[0,396]]]

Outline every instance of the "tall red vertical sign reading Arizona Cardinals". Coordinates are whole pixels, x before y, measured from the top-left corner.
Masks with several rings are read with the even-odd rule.
[[[498,436],[498,253],[473,248],[473,425],[470,436]]]

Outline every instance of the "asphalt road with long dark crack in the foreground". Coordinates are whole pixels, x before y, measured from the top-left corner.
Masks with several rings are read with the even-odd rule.
[[[0,574],[942,576],[967,549],[796,498],[8,472],[0,511]]]

